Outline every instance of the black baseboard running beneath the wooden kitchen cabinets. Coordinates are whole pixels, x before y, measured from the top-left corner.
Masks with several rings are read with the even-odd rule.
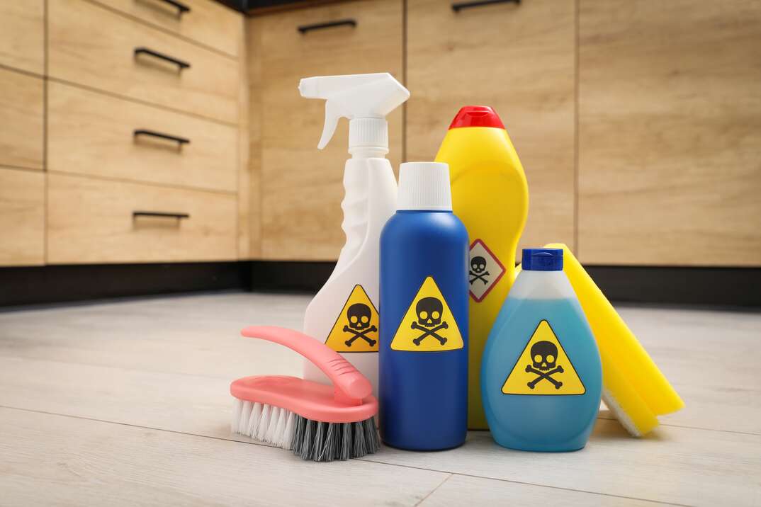
[[[334,262],[192,262],[0,268],[0,306],[209,290],[316,292]],[[615,302],[761,308],[761,268],[587,266]]]

